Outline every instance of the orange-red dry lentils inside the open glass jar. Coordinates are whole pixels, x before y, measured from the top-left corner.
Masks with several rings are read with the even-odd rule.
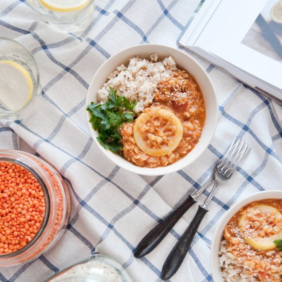
[[[0,255],[26,246],[44,215],[44,193],[33,174],[17,164],[0,162]]]

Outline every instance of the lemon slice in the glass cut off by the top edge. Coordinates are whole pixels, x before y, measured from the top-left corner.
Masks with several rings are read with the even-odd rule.
[[[83,9],[90,0],[39,0],[45,8],[55,12],[72,12]]]

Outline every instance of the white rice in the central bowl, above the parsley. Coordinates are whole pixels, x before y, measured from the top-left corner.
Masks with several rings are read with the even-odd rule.
[[[142,112],[152,104],[157,84],[173,75],[176,71],[174,58],[169,56],[158,61],[153,53],[149,59],[133,57],[128,66],[120,65],[107,77],[107,82],[98,90],[100,102],[106,102],[109,88],[117,90],[120,96],[126,96],[131,102],[137,102],[135,112]]]

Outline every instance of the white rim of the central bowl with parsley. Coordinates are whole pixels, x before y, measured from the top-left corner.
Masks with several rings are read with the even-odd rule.
[[[212,83],[212,80],[211,78],[209,77],[209,75],[207,74],[207,72],[205,71],[205,69],[193,58],[191,57],[189,54],[179,50],[179,49],[176,49],[176,48],[173,48],[171,46],[167,46],[167,45],[160,45],[160,44],[139,44],[139,45],[134,45],[134,46],[131,46],[131,47],[128,47],[126,49],[123,49],[119,52],[117,52],[116,54],[114,54],[113,56],[111,56],[109,59],[107,59],[99,68],[98,70],[95,72],[94,76],[92,77],[92,80],[90,82],[90,85],[89,85],[89,88],[88,88],[88,91],[87,91],[87,95],[86,95],[86,107],[93,101],[93,95],[91,94],[91,89],[94,87],[94,84],[95,84],[95,80],[97,79],[98,75],[99,75],[99,72],[100,70],[102,70],[103,68],[105,68],[107,65],[111,64],[111,62],[113,62],[117,57],[119,57],[120,55],[124,55],[128,52],[131,52],[133,51],[134,49],[145,49],[146,48],[155,48],[156,50],[158,50],[158,48],[164,48],[166,50],[170,50],[171,52],[178,52],[179,54],[181,53],[183,56],[185,56],[186,58],[188,58],[189,60],[191,60],[200,70],[203,71],[203,74],[205,76],[205,79],[207,80],[208,84],[210,85],[210,91],[209,91],[209,95],[211,95],[214,99],[214,104],[216,105],[216,110],[214,111],[214,124],[212,126],[210,126],[209,128],[209,131],[210,131],[210,138],[207,138],[207,139],[202,139],[201,141],[201,149],[198,149],[198,153],[197,153],[197,156],[195,156],[193,159],[187,159],[186,160],[186,163],[184,164],[184,161],[181,162],[181,160],[184,160],[186,159],[188,155],[186,155],[185,157],[183,157],[182,159],[179,159],[177,162],[169,165],[169,166],[166,166],[166,167],[156,167],[156,168],[147,168],[147,167],[138,167],[128,161],[126,161],[127,165],[124,165],[124,163],[122,162],[114,162],[111,158],[111,156],[113,156],[113,152],[109,151],[109,150],[105,150],[102,145],[100,145],[97,141],[97,139],[93,136],[93,132],[94,129],[92,128],[92,125],[89,123],[89,119],[90,119],[90,113],[88,111],[86,111],[86,119],[87,119],[87,124],[88,124],[88,128],[89,128],[89,131],[90,131],[90,134],[92,136],[92,138],[94,139],[94,142],[95,144],[97,145],[97,147],[104,153],[104,155],[106,155],[109,159],[112,160],[112,162],[114,162],[116,165],[118,165],[119,167],[121,168],[124,168],[130,172],[133,172],[133,173],[136,173],[136,174],[140,174],[140,175],[150,175],[150,176],[156,176],[156,175],[165,175],[165,174],[169,174],[169,173],[172,173],[172,172],[175,172],[175,171],[178,171],[180,169],[183,169],[184,167],[190,165],[191,163],[194,162],[194,160],[196,160],[208,147],[208,145],[210,144],[211,142],[211,139],[214,135],[214,132],[215,132],[215,129],[216,129],[216,126],[217,126],[217,120],[218,120],[218,101],[217,101],[217,96],[215,94],[215,89],[214,89],[214,86],[213,86],[213,83]],[[145,51],[144,50],[144,51]],[[151,54],[152,52],[148,51],[148,56]],[[119,62],[122,62],[122,60],[119,60]],[[119,64],[113,64],[113,70],[119,66],[120,64],[122,63],[119,63]],[[177,64],[177,62],[176,62]],[[113,71],[112,70],[112,71]],[[103,82],[104,84],[104,82]],[[204,126],[205,128],[205,126]],[[199,142],[197,143],[199,144]],[[197,146],[196,144],[196,146]],[[195,148],[196,148],[195,146]],[[193,150],[195,150],[195,148]],[[193,151],[192,150],[192,151]],[[191,155],[191,154],[190,154]],[[120,156],[120,158],[122,158],[122,156]]]

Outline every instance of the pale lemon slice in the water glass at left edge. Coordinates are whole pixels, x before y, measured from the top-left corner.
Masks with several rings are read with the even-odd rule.
[[[31,98],[33,84],[24,67],[13,61],[0,61],[0,89],[0,105],[17,111]]]

